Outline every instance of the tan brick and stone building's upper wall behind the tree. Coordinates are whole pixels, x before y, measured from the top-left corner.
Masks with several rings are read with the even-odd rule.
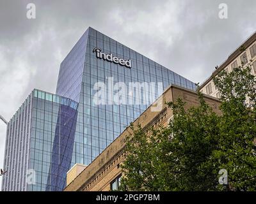
[[[159,112],[152,112],[151,106],[134,121],[134,126],[141,124],[141,127],[148,129],[151,126],[167,126],[168,119],[172,117],[172,110],[167,108],[164,102],[175,101],[182,98],[186,102],[186,108],[198,105],[196,93],[172,86],[166,89],[163,94],[163,107]],[[220,101],[210,96],[205,96],[205,100],[212,106],[213,110],[220,113],[218,106]],[[131,128],[116,138],[86,169],[80,173],[65,189],[65,191],[110,191],[111,182],[122,173],[120,164],[125,159],[123,148],[125,138],[131,134]]]

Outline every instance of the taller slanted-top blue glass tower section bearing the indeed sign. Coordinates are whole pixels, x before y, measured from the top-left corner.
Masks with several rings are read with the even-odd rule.
[[[101,48],[106,54],[131,59],[132,68],[97,59],[93,53],[95,47]],[[72,77],[61,74],[70,71]],[[114,83],[156,82],[157,88],[157,82],[162,82],[162,89],[176,84],[195,90],[193,82],[89,27],[61,63],[56,89],[56,94],[71,97],[79,103],[72,165],[90,164],[150,105],[95,105],[93,96],[97,91],[93,86],[97,82],[108,84],[109,77],[113,77]],[[74,78],[79,80],[70,82]],[[107,96],[111,94],[108,91],[106,93]],[[157,98],[159,95],[161,93],[152,97]],[[132,96],[127,93],[129,97]]]

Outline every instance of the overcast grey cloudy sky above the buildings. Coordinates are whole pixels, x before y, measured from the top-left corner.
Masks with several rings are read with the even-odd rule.
[[[0,115],[10,120],[34,88],[55,92],[60,63],[88,26],[202,83],[256,31],[255,8],[255,0],[0,0]],[[0,121],[1,168],[5,133]]]

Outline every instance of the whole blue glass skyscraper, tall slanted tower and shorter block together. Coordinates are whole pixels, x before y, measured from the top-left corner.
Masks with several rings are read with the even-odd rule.
[[[28,102],[25,101],[25,105],[22,105],[24,108],[30,107],[30,122],[19,119],[24,117],[20,116],[22,113],[19,110],[8,123],[4,158],[4,168],[8,172],[4,176],[3,190],[62,190],[65,187],[67,170],[71,166],[76,163],[90,164],[130,122],[150,106],[149,103],[98,105],[95,94],[99,89],[95,84],[99,82],[111,88],[106,89],[106,96],[111,99],[118,92],[113,91],[113,85],[117,82],[124,82],[125,85],[132,82],[152,83],[156,90],[164,90],[170,84],[195,90],[193,82],[89,27],[61,62],[56,95],[51,95],[67,100],[65,108],[60,101],[57,103],[46,99],[46,95],[44,99],[39,99],[39,95],[35,97],[35,92],[39,91],[33,91],[26,99]],[[145,87],[143,89],[147,92]],[[161,93],[149,91],[146,94],[154,101]],[[125,89],[127,101],[136,100],[136,96],[130,89]],[[40,110],[39,116],[33,115],[33,105],[38,102],[28,105],[29,100],[45,103],[44,114],[49,112],[54,115],[51,121],[47,120],[48,116],[42,113],[43,110]],[[47,110],[49,106],[58,108]],[[37,110],[34,112],[37,113]],[[40,122],[38,126],[37,121]],[[21,126],[29,126],[31,133],[17,128],[19,122]],[[51,129],[48,129],[49,122],[52,124]],[[37,127],[40,127],[38,136],[35,130]],[[26,150],[22,152],[18,148],[19,145],[16,147],[15,142],[13,143],[13,140],[22,139],[16,136],[20,134],[24,135],[26,141],[31,141],[24,146]],[[12,154],[18,154],[19,157],[13,157]],[[35,170],[36,184],[26,187],[24,176],[28,177],[28,169]]]

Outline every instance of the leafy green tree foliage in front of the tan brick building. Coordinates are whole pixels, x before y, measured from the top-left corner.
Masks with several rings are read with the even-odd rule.
[[[122,165],[124,191],[255,191],[255,87],[252,64],[221,71],[214,84],[221,93],[216,115],[197,91],[198,106],[186,110],[169,102],[173,120],[166,128],[131,126]],[[227,170],[228,184],[218,174]]]

